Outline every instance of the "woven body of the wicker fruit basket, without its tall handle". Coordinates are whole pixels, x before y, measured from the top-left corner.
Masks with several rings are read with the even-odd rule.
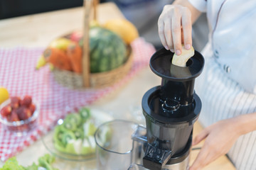
[[[127,49],[127,61],[116,69],[112,69],[109,72],[91,73],[90,74],[90,88],[103,88],[111,86],[123,79],[132,67],[133,55],[131,47]],[[85,88],[83,84],[82,74],[75,72],[53,69],[54,79],[63,86],[67,86],[71,89]]]

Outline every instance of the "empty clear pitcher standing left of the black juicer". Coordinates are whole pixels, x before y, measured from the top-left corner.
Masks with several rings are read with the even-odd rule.
[[[146,128],[127,120],[112,120],[95,132],[97,169],[134,169],[142,166]]]

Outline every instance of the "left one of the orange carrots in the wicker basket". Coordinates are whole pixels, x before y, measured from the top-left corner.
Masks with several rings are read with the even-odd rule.
[[[53,47],[48,47],[43,52],[43,56],[46,58],[46,61],[53,64],[54,67],[58,69],[65,69],[65,70],[72,71],[70,59],[63,50],[53,48]]]

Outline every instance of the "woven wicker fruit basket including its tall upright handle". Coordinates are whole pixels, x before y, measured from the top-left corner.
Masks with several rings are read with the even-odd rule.
[[[132,67],[133,55],[132,48],[130,46],[127,47],[127,60],[120,67],[116,69],[112,69],[108,72],[100,72],[100,73],[90,73],[90,52],[89,52],[89,15],[90,8],[93,5],[94,9],[94,19],[97,19],[96,10],[98,0],[84,0],[85,7],[85,18],[84,18],[84,46],[83,46],[83,55],[82,55],[82,74],[78,74],[75,72],[53,69],[53,77],[54,79],[63,86],[67,86],[71,89],[83,89],[83,88],[103,88],[106,86],[111,86],[116,83],[120,79],[124,78],[129,70]]]

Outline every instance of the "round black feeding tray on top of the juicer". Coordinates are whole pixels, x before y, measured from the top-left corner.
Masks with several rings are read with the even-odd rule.
[[[150,60],[150,68],[159,77],[173,81],[188,81],[198,77],[203,71],[204,59],[200,52],[195,50],[186,67],[171,64],[174,52],[164,47],[156,51]]]

